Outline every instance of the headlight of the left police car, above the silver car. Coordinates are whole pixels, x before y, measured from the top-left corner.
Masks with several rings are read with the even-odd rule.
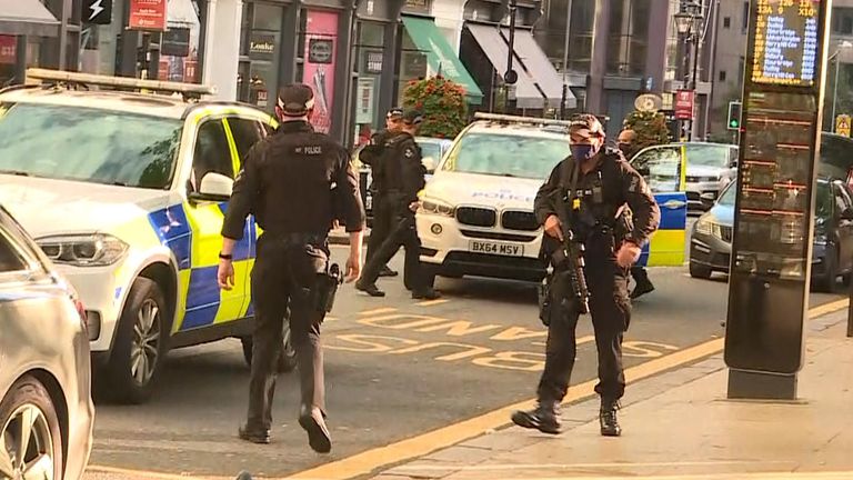
[[[77,267],[113,264],[128,251],[127,243],[104,233],[43,237],[37,243],[54,263]]]

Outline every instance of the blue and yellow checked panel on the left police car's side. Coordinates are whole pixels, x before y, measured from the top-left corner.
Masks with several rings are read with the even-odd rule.
[[[252,314],[249,273],[255,257],[254,219],[245,224],[234,249],[235,286],[223,291],[217,284],[219,251],[228,203],[174,204],[149,214],[160,242],[178,263],[178,316],[172,331],[228,322]]]

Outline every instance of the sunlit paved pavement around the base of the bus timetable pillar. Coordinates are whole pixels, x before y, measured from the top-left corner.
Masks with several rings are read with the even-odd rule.
[[[509,427],[373,479],[851,480],[853,339],[845,322],[841,311],[809,323],[793,402],[727,400],[727,369],[716,356],[629,384],[619,439],[599,434],[591,400],[564,407],[560,436]]]

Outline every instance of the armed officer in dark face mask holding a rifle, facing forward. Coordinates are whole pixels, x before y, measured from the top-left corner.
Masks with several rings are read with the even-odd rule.
[[[570,139],[571,157],[554,168],[534,203],[545,230],[542,253],[554,267],[541,312],[549,330],[539,404],[532,411],[514,412],[512,420],[524,428],[559,433],[560,402],[574,366],[575,327],[579,316],[589,309],[599,352],[595,391],[601,396],[601,433],[615,437],[622,431],[616,409],[625,389],[622,337],[631,319],[629,269],[658,229],[660,210],[643,178],[621,152],[603,149],[604,131],[594,116],[573,121]],[[624,216],[625,206],[633,212],[633,221]],[[564,261],[579,251],[583,259]]]

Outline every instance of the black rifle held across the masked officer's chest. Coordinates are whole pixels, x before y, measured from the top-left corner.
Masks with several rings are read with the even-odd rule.
[[[586,286],[586,274],[583,272],[584,247],[582,242],[574,238],[569,216],[571,206],[569,206],[564,190],[558,190],[554,192],[554,196],[556,197],[554,199],[554,207],[556,207],[556,216],[560,219],[563,232],[563,241],[560,243],[560,248],[551,254],[554,276],[564,277],[568,280],[578,312],[581,314],[589,313],[590,289]]]

